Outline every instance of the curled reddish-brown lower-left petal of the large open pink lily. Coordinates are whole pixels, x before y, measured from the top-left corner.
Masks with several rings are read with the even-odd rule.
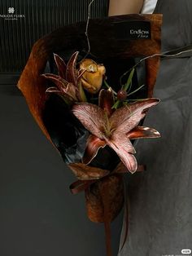
[[[107,143],[105,142],[105,140],[99,139],[94,135],[89,135],[85,148],[85,154],[82,159],[83,163],[85,165],[89,165],[89,163],[94,159],[94,157],[97,156],[98,149],[104,148],[106,144]]]

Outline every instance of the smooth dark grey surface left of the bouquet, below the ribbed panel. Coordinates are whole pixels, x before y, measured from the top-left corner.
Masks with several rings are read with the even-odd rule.
[[[13,86],[0,85],[0,255],[102,256],[103,224],[86,216],[84,193]],[[117,254],[121,216],[112,223]]]

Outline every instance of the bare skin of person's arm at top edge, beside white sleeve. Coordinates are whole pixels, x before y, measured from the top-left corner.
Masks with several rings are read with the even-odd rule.
[[[144,0],[110,0],[109,16],[139,13]]]

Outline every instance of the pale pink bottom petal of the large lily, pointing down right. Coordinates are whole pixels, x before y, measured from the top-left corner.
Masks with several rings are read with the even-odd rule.
[[[106,140],[107,144],[116,151],[120,160],[124,163],[124,166],[133,174],[137,170],[137,160],[133,154],[127,152],[118,141],[112,141],[111,139]]]

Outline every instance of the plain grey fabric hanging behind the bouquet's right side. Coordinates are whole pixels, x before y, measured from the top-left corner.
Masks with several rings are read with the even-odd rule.
[[[164,15],[162,51],[192,43],[191,0],[159,0],[155,13]],[[146,171],[127,179],[129,235],[119,256],[175,256],[192,249],[191,70],[191,57],[160,64],[155,97],[161,103],[144,125],[159,130],[161,138],[136,142]]]

